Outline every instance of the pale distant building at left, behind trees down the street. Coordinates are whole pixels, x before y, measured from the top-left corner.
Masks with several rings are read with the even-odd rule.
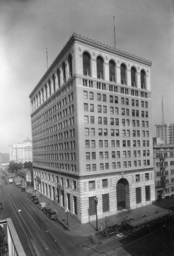
[[[16,163],[32,162],[33,160],[33,149],[32,141],[28,138],[24,142],[15,142],[10,145],[10,161]]]

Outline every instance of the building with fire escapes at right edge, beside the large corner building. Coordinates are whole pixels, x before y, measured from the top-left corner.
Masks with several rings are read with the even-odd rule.
[[[174,196],[174,144],[154,144],[156,198]]]

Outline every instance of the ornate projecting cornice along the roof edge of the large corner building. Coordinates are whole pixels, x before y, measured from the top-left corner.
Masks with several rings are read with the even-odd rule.
[[[48,68],[48,70],[46,71],[44,76],[41,77],[41,79],[37,83],[36,87],[34,88],[34,90],[29,95],[30,98],[32,97],[33,93],[37,90],[37,88],[40,86],[40,84],[42,82],[44,82],[44,80],[52,72],[52,69],[57,65],[59,60],[68,51],[68,49],[71,47],[71,45],[74,41],[78,41],[78,42],[81,42],[82,44],[92,46],[96,49],[103,50],[103,51],[106,51],[106,52],[111,53],[111,54],[115,54],[116,56],[119,56],[119,57],[123,57],[123,58],[129,59],[129,60],[133,60],[133,61],[142,63],[143,65],[146,65],[148,67],[151,67],[151,65],[152,65],[152,62],[150,60],[138,57],[138,56],[130,54],[130,53],[127,53],[127,52],[122,51],[120,49],[115,49],[112,46],[102,44],[102,42],[96,41],[96,40],[91,39],[89,37],[82,36],[81,34],[73,33],[72,36],[70,37],[70,39],[67,41],[66,45],[64,45],[64,47],[62,48],[60,53],[57,55],[57,57],[54,59],[53,63],[50,65],[50,67]]]

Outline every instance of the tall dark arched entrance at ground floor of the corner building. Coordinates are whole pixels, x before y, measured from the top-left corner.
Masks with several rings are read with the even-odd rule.
[[[117,210],[129,209],[129,184],[124,178],[117,183]]]

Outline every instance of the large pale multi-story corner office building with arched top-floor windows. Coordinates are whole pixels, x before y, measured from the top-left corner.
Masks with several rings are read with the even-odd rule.
[[[34,187],[81,223],[155,201],[150,67],[73,34],[30,94]]]

